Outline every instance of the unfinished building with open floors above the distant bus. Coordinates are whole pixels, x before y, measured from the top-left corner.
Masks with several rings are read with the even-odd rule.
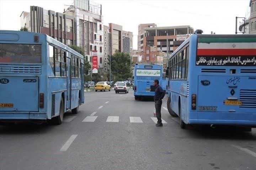
[[[148,25],[151,26],[152,24]],[[154,26],[144,27],[144,34],[140,36],[143,40],[141,39],[140,47],[138,48],[140,49],[139,55],[142,56],[142,62],[156,62],[156,58],[159,56],[157,52],[164,52],[170,55],[194,32],[190,26]],[[141,29],[141,25],[139,25],[139,29]],[[154,50],[151,47],[154,47]]]

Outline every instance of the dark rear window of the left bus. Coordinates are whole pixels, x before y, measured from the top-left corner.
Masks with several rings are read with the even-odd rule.
[[[42,63],[42,45],[0,44],[0,63]]]

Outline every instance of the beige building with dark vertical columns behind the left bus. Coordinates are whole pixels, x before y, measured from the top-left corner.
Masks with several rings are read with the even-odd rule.
[[[75,18],[52,10],[44,10],[39,6],[30,6],[30,12],[20,15],[21,26],[30,32],[47,34],[66,45],[76,44],[74,32]]]

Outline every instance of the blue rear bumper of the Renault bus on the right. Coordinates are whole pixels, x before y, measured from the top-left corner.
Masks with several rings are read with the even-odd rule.
[[[200,112],[190,114],[189,124],[238,125],[256,127],[256,113]],[[194,115],[194,117],[193,117]]]

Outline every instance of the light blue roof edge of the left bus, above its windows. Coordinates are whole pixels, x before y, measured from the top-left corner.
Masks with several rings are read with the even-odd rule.
[[[49,42],[50,44],[54,44],[58,47],[61,47],[84,60],[84,56],[82,56],[80,53],[71,49],[70,47],[63,44],[62,42],[59,42],[58,40],[55,40],[54,38],[52,38],[46,34],[42,34],[42,33],[34,33],[34,32],[27,32],[27,31],[14,31],[14,30],[0,30],[0,41],[14,43],[15,41],[18,41],[20,39],[20,35],[29,35],[29,36],[39,35],[39,37],[46,38],[46,41]],[[39,40],[40,40],[40,38],[39,38]]]

